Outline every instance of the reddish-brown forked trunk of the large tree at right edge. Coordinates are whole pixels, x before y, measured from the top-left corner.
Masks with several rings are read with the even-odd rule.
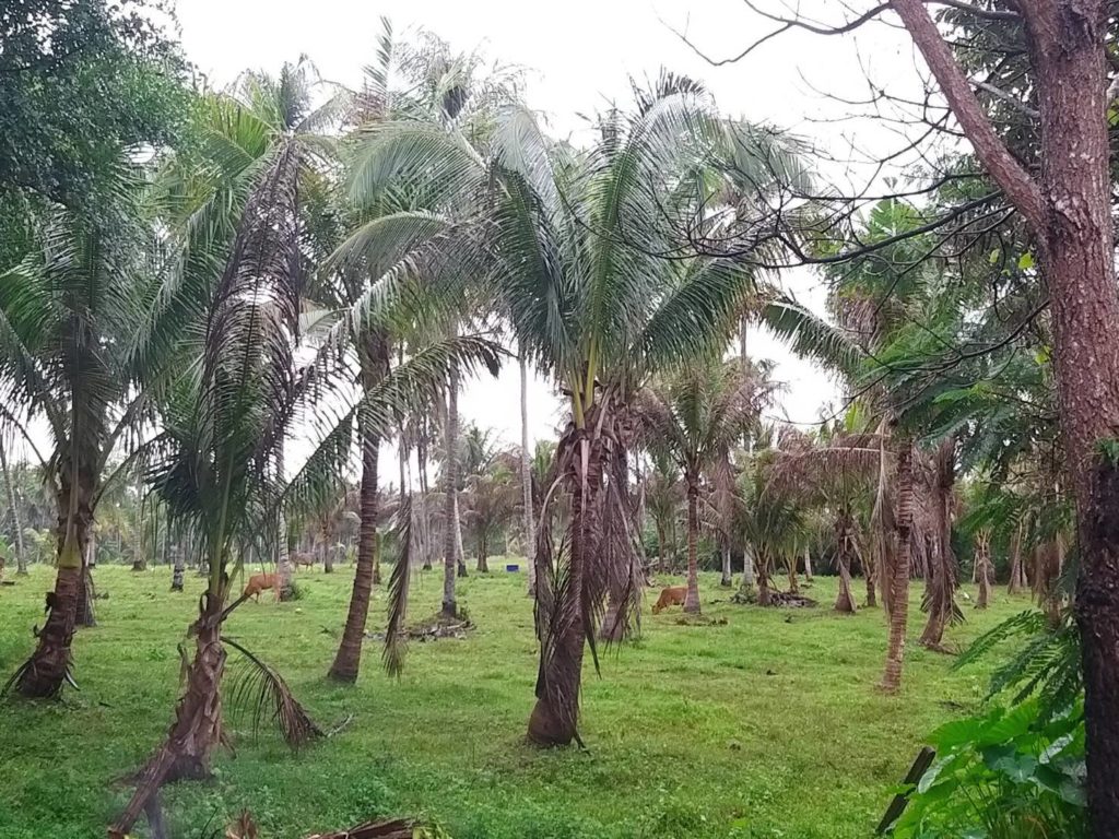
[[[1018,0],[1041,114],[1035,181],[995,133],[921,0],[892,0],[980,161],[1033,228],[1049,284],[1061,431],[1075,490],[1076,623],[1084,670],[1088,809],[1119,835],[1119,492],[1098,446],[1119,428],[1119,295],[1108,144],[1104,0]]]

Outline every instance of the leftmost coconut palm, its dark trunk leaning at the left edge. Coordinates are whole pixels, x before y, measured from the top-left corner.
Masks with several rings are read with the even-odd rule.
[[[153,281],[135,182],[96,216],[57,209],[40,229],[37,249],[0,273],[2,422],[27,437],[27,421],[44,421],[47,452],[27,439],[57,515],[47,622],[9,681],[29,697],[54,696],[72,678],[74,628],[92,616],[86,558],[109,460],[132,444],[128,432],[150,415],[151,388],[168,369],[166,353],[137,340]]]

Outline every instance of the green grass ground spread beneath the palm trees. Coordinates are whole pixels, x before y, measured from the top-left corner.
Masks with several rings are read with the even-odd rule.
[[[29,651],[51,573],[38,567],[0,587],[0,672]],[[236,755],[219,755],[213,782],[164,792],[175,836],[200,837],[207,822],[214,829],[247,808],[262,839],[383,814],[425,814],[455,839],[867,837],[923,735],[975,708],[986,686],[981,668],[952,672],[950,658],[915,644],[919,583],[904,687],[891,697],[874,687],[881,610],[739,606],[704,575],[704,613],[726,624],[679,625],[678,610],[652,616],[647,604],[641,640],[606,653],[602,678],[587,664],[590,753],[542,752],[524,742],[537,650],[521,575],[460,581],[478,624],[468,640],[413,643],[399,681],[384,675],[380,647],[368,641],[358,685],[338,687],[323,676],[351,574],[301,572],[303,598],[246,603],[227,624],[323,728],[352,714],[351,724],[298,755],[272,732],[254,742],[244,724],[232,726]],[[188,572],[187,593],[171,594],[169,577],[162,567],[98,568],[109,596],[97,603],[100,625],[75,642],[81,692],[0,706],[0,836],[104,836],[126,800],[122,779],[171,718],[176,645],[203,581]],[[817,579],[811,593],[829,603],[834,581]],[[432,614],[439,595],[440,578],[423,575],[411,615]],[[965,605],[968,621],[948,641],[967,642],[1026,606],[999,588],[987,612]],[[370,624],[384,624],[382,591]]]

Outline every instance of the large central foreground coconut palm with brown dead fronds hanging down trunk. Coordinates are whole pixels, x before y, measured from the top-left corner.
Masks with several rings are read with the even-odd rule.
[[[680,246],[673,221],[694,218],[707,197],[698,173],[718,151],[761,141],[720,120],[688,79],[665,76],[637,98],[634,114],[601,120],[600,141],[583,154],[514,106],[498,113],[486,153],[461,133],[398,122],[370,138],[365,166],[387,182],[425,172],[440,201],[487,196],[455,254],[493,280],[517,346],[571,408],[537,531],[543,638],[529,736],[546,745],[575,737],[586,628],[599,624],[611,581],[636,566],[632,396],[658,369],[723,346],[752,283],[740,257],[661,255]],[[558,538],[556,505],[571,510]]]

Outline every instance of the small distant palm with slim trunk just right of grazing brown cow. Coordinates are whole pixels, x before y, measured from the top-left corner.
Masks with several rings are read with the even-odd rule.
[[[645,444],[679,466],[688,501],[688,585],[685,612],[699,612],[699,502],[704,479],[730,484],[731,449],[756,422],[773,385],[743,371],[737,361],[697,360],[645,388],[637,399]]]

